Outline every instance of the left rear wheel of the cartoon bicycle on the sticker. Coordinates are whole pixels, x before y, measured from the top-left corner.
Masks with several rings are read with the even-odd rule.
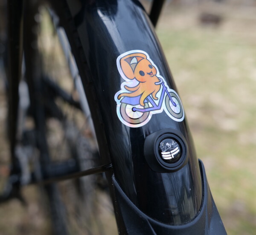
[[[121,117],[125,122],[128,122],[132,125],[140,124],[142,122],[145,122],[145,120],[149,116],[149,112],[139,112],[139,111],[133,111],[132,108],[148,108],[148,103],[145,104],[145,107],[141,105],[128,105],[125,103],[122,103],[120,106],[120,113]]]

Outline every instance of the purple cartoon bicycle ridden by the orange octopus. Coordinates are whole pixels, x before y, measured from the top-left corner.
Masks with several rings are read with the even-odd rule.
[[[140,105],[140,97],[124,96],[117,105],[117,113],[121,122],[129,127],[140,127],[145,125],[152,114],[161,113],[163,110],[173,120],[181,122],[184,119],[184,110],[180,98],[176,91],[168,88],[162,78],[158,77],[161,85],[160,98],[158,104],[152,99],[151,95],[145,99],[145,106]]]

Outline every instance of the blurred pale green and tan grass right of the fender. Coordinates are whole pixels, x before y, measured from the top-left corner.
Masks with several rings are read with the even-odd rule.
[[[166,8],[157,35],[227,233],[254,235],[256,19],[245,8],[226,8],[221,25],[202,26],[205,10],[218,14]]]

